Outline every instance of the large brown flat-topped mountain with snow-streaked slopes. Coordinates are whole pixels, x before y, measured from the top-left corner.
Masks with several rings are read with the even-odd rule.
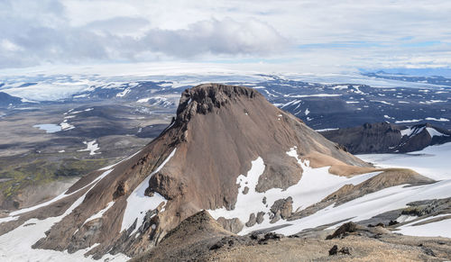
[[[0,235],[27,225],[41,230],[32,248],[134,257],[164,248],[168,239],[181,243],[180,229],[211,221],[205,213],[184,221],[201,210],[216,220],[207,235],[195,237],[202,243],[253,231],[290,235],[382,213],[373,221],[396,220],[411,198],[398,194],[396,201],[384,198],[392,204],[383,208],[372,202],[364,210],[346,208],[390,188],[427,200],[436,184],[410,169],[372,167],[253,88],[204,84],[182,93],[176,117],[142,150],[83,176],[49,202],[6,214]],[[45,221],[52,221],[47,228]]]

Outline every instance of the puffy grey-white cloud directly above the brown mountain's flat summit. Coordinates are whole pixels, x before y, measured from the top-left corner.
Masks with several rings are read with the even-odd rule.
[[[225,18],[200,21],[188,29],[153,29],[139,41],[141,48],[170,57],[189,58],[200,54],[259,54],[284,50],[287,41],[271,26],[256,20],[236,22]]]

